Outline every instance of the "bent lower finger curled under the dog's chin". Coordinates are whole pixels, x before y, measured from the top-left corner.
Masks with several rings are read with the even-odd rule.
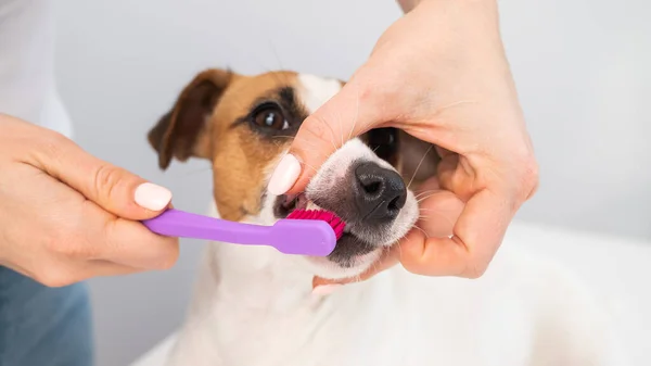
[[[512,216],[513,205],[508,200],[483,190],[465,204],[451,238],[427,238],[412,230],[403,244],[400,262],[420,275],[477,278],[501,244]]]

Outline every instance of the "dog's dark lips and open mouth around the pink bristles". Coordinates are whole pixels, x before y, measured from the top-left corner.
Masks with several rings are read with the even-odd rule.
[[[288,215],[295,210],[323,209],[310,200],[306,193],[283,194],[276,199],[276,204],[273,207],[273,214],[276,218],[286,218]],[[339,213],[336,210],[329,211],[332,211],[340,217],[347,216],[342,215],[342,213]],[[336,241],[336,247],[334,248],[334,251],[328,255],[328,260],[337,263],[342,267],[349,268],[357,264],[357,258],[378,250],[376,245],[363,240],[361,235],[362,229],[363,228],[357,228],[356,225],[346,223],[344,234]]]

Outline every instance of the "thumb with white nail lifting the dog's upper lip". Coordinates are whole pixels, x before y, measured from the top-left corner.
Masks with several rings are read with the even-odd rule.
[[[304,191],[334,151],[373,128],[378,109],[373,108],[373,93],[363,90],[352,80],[303,122],[289,153],[271,175],[267,187],[270,193]]]

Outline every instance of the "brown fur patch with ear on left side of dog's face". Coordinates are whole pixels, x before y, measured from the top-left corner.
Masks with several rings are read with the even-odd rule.
[[[228,83],[220,83],[226,75]],[[161,167],[166,168],[173,155],[181,161],[208,159],[220,216],[241,220],[258,214],[268,169],[291,139],[270,139],[239,122],[260,98],[277,100],[278,90],[295,88],[296,83],[291,72],[244,76],[209,70],[199,74],[149,135]]]

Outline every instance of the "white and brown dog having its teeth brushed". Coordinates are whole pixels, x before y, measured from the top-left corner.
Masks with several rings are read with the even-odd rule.
[[[436,169],[426,143],[379,128],[341,146],[305,192],[269,193],[301,123],[343,85],[210,68],[150,130],[162,169],[174,159],[212,162],[214,217],[272,225],[292,210],[321,207],[347,224],[328,257],[209,243],[168,365],[621,365],[607,313],[583,285],[515,248],[500,249],[477,279],[417,276],[398,265],[312,292],[315,276],[358,276],[399,243],[419,218],[413,187]]]

